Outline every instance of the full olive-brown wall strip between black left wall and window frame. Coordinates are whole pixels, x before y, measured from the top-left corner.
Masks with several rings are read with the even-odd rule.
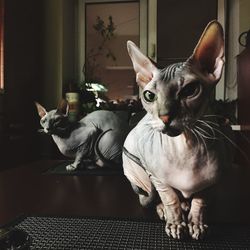
[[[75,76],[75,7],[72,0],[44,0],[44,56],[41,101],[57,106],[64,85]]]

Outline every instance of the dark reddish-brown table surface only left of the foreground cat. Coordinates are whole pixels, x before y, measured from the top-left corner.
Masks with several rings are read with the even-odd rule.
[[[0,225],[19,215],[147,217],[125,176],[65,176],[43,160],[0,172]]]

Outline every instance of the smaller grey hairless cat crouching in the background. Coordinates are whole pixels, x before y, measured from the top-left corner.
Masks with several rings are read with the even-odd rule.
[[[93,164],[122,167],[122,146],[129,130],[126,115],[99,110],[70,122],[65,102],[49,112],[39,103],[36,107],[43,131],[52,136],[63,155],[74,158],[68,171]]]

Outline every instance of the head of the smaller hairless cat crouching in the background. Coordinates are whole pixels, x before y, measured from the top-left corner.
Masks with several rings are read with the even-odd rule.
[[[38,115],[40,116],[40,124],[43,132],[47,134],[62,135],[69,126],[68,105],[62,101],[57,109],[46,111],[39,103],[35,103]]]

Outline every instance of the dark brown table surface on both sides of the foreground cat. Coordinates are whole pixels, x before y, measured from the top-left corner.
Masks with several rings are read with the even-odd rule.
[[[44,174],[57,163],[40,160],[0,172],[0,225],[20,215],[155,218],[125,176]],[[249,172],[238,169],[218,189],[209,207],[212,223],[250,224]]]

